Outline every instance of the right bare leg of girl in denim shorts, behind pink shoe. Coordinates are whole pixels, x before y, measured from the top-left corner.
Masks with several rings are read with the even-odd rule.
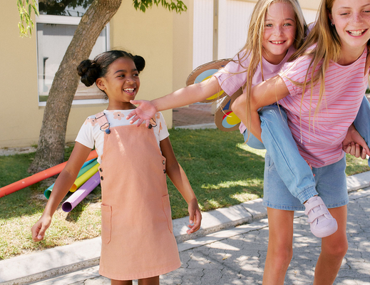
[[[317,260],[314,285],[333,284],[346,255],[348,242],[346,236],[347,207],[329,209],[338,223],[338,230],[322,239],[322,252]]]

